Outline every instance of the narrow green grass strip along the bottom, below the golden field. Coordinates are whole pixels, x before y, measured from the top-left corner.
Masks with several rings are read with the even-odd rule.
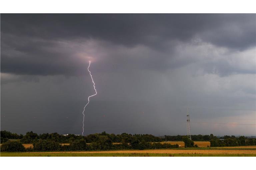
[[[0,156],[256,156],[256,154],[168,154],[168,153],[33,153],[1,152]]]

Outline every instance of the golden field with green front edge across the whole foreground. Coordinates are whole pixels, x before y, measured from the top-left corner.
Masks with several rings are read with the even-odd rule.
[[[256,146],[247,148],[187,148],[72,152],[1,152],[0,156],[256,156]]]

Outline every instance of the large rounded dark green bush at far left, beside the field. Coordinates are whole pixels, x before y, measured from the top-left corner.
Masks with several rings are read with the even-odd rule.
[[[7,141],[1,145],[1,152],[24,152],[25,147],[20,141]]]

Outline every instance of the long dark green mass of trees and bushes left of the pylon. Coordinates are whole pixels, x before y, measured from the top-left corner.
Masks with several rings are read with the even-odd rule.
[[[15,136],[17,140],[9,140],[12,134],[1,131],[1,151],[82,151],[82,150],[122,150],[122,149],[161,149],[178,148],[179,145],[159,143],[160,138],[150,134],[108,134],[106,132],[80,135],[60,135],[58,133],[36,134],[33,131],[25,135]],[[22,136],[22,137],[21,137]],[[7,140],[6,140],[7,139]],[[33,148],[24,148],[22,143],[33,143]],[[69,143],[69,144],[62,144]]]

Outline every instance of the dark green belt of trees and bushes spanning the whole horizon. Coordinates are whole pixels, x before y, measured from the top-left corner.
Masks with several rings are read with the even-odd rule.
[[[210,135],[191,135],[192,140],[187,136],[165,136],[166,139],[151,134],[108,134],[102,133],[82,135],[60,135],[58,133],[37,134],[33,131],[25,135],[18,135],[9,131],[1,131],[1,151],[81,151],[81,150],[122,150],[122,149],[161,149],[177,148],[179,145],[160,143],[162,140],[184,141],[185,147],[197,147],[195,141],[210,141],[210,146],[239,146],[256,145],[255,138],[244,136],[223,136],[220,140],[213,134]],[[9,140],[10,139],[10,140]],[[22,143],[33,143],[33,148],[24,148]],[[68,143],[63,145],[63,143]]]

